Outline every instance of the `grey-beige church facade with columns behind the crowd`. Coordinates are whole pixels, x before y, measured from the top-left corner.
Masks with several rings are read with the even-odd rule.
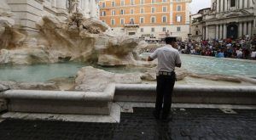
[[[253,36],[256,34],[255,5],[255,0],[212,0],[212,10],[202,16],[202,39]]]

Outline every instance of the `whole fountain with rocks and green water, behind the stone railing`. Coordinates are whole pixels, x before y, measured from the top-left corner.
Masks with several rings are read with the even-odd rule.
[[[67,18],[44,15],[38,33],[17,28],[0,1],[0,88],[102,92],[108,83],[155,83],[157,61],[143,50],[150,44],[111,31],[71,3]],[[160,47],[156,45],[155,48]],[[254,61],[181,55],[177,85],[255,85]]]

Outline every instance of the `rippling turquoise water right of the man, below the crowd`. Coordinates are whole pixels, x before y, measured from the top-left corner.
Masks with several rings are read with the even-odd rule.
[[[256,61],[182,55],[183,68],[191,73],[256,77]]]

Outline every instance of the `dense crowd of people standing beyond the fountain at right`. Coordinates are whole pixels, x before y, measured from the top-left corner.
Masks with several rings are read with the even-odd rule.
[[[177,42],[180,53],[205,55],[217,58],[256,59],[256,36],[236,40],[202,40]]]

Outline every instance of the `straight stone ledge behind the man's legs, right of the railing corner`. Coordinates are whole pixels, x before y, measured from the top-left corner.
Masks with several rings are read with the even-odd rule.
[[[156,85],[116,85],[116,102],[155,102]],[[254,86],[175,86],[173,103],[183,104],[256,104]]]

